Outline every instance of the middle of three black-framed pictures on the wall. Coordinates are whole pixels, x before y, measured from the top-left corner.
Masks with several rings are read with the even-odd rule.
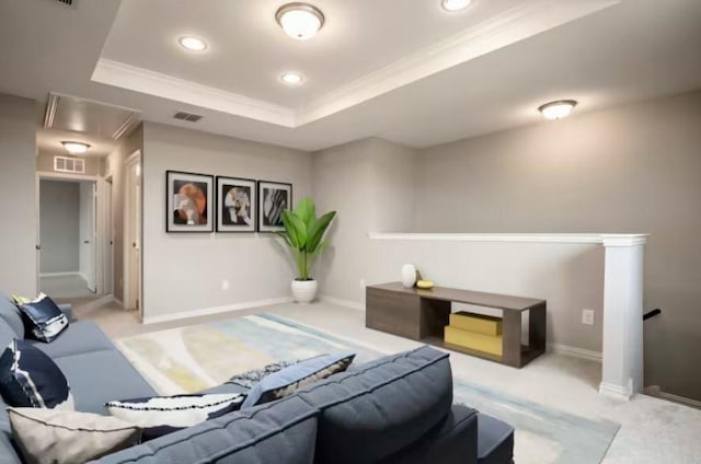
[[[255,232],[257,188],[255,179],[217,176],[217,232]]]

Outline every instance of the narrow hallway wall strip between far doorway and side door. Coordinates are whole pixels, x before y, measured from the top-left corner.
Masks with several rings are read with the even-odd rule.
[[[143,126],[136,128],[119,141],[117,149],[103,163],[104,177],[112,178],[112,227],[113,227],[113,294],[124,301],[124,162],[135,151],[143,150]],[[107,237],[108,240],[108,237]]]

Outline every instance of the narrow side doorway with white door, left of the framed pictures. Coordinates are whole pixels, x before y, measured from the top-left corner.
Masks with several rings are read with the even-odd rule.
[[[124,308],[143,317],[141,298],[141,151],[125,162],[126,195],[124,208]]]

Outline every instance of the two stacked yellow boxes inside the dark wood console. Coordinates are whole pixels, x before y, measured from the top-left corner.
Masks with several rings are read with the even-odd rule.
[[[482,314],[459,312],[450,314],[445,341],[491,355],[502,356],[502,320]]]

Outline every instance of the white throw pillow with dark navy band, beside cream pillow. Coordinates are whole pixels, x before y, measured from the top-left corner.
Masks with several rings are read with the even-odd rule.
[[[105,405],[114,417],[135,424],[142,440],[174,432],[241,408],[244,394],[207,394],[153,396],[110,402]]]

